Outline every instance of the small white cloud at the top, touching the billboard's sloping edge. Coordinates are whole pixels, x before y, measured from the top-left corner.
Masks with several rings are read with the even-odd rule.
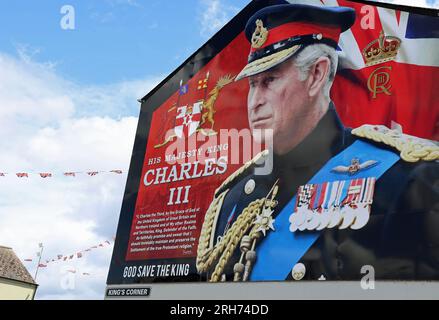
[[[200,0],[200,3],[200,34],[205,38],[219,31],[239,11],[239,8],[224,0]]]

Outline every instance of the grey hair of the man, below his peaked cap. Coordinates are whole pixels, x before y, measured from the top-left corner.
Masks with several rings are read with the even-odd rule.
[[[311,66],[320,57],[328,57],[330,60],[329,76],[323,87],[323,94],[329,99],[329,91],[331,90],[338,64],[338,54],[334,48],[322,43],[309,45],[293,58],[293,64],[299,69],[299,80],[304,81],[308,78]]]

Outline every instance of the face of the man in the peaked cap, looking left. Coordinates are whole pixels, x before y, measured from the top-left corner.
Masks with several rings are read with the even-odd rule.
[[[309,112],[306,80],[299,81],[299,70],[289,59],[250,76],[249,85],[248,117],[254,140],[268,143],[264,132],[272,129],[275,153],[285,153],[288,150],[277,149],[310,125],[304,121]]]

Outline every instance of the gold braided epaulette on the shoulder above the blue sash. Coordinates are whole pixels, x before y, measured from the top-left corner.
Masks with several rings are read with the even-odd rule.
[[[352,134],[364,139],[384,143],[400,152],[407,162],[435,161],[439,159],[437,142],[403,134],[382,125],[365,124],[352,130]]]

